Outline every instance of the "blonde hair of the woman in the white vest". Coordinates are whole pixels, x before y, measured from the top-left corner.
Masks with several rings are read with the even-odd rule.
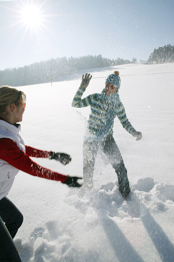
[[[7,85],[0,87],[0,116],[7,110],[9,113],[9,106],[11,103],[20,103],[19,111],[21,111],[25,101],[26,95],[23,91]]]

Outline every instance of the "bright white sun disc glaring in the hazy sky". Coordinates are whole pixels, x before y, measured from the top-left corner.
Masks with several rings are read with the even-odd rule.
[[[21,16],[23,22],[31,28],[41,24],[41,12],[36,6],[25,6],[21,10]]]

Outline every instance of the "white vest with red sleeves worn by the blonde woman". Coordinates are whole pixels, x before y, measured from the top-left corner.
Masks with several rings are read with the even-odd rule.
[[[32,157],[50,157],[50,152],[25,146],[19,135],[20,125],[0,119],[0,200],[8,195],[19,170],[33,176],[65,182],[67,176],[39,166]]]

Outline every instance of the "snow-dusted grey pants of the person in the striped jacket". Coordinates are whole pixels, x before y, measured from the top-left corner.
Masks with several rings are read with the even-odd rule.
[[[120,150],[115,143],[113,136],[108,136],[104,141],[83,143],[83,179],[86,186],[92,185],[92,178],[94,172],[94,164],[98,148],[101,148],[103,153],[108,157],[110,163],[118,177],[119,190],[125,198],[130,193],[129,181],[127,178],[127,170],[125,168]]]

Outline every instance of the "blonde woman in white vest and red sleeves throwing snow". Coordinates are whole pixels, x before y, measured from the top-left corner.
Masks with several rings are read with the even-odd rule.
[[[23,215],[7,198],[19,170],[46,179],[80,187],[78,177],[70,177],[39,166],[30,157],[55,159],[66,165],[71,157],[65,153],[42,151],[24,144],[19,135],[26,106],[26,95],[9,86],[0,88],[0,261],[21,261],[13,238],[22,225]],[[5,225],[4,225],[4,223]]]

